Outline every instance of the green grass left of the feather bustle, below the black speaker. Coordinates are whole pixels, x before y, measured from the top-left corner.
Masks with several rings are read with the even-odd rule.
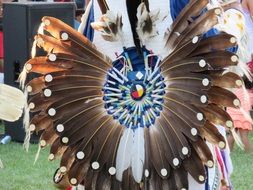
[[[55,190],[52,176],[58,162],[48,161],[47,148],[41,150],[34,165],[37,149],[38,145],[32,144],[29,152],[25,152],[19,143],[0,144],[0,158],[4,164],[0,169],[0,190]]]

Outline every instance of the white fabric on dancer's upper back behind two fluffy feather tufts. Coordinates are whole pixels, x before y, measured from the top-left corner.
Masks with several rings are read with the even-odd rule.
[[[117,1],[107,0],[106,2],[110,8],[110,11],[114,12],[115,14],[119,13],[122,15],[125,47],[134,46],[132,30],[131,30],[131,26],[128,19],[127,8],[125,6],[126,4],[125,0],[117,0]],[[156,54],[159,53],[159,55],[161,54],[164,55],[164,53],[162,53],[162,50],[164,50],[163,37],[164,37],[165,31],[167,30],[167,28],[170,27],[172,23],[172,19],[169,13],[169,1],[168,0],[160,0],[160,1],[150,0],[149,4],[150,4],[151,11],[162,8],[161,15],[168,15],[167,18],[163,20],[163,22],[157,26],[159,35],[153,38],[152,40],[150,40],[150,42],[146,44],[147,48],[152,49],[154,53]],[[95,21],[98,21],[102,14],[101,14],[97,1],[94,1],[94,12],[95,12],[95,15],[94,15]],[[100,32],[98,31],[95,31],[94,33],[93,43],[97,46],[97,48],[101,52],[108,55],[112,60],[116,59],[115,53],[120,54],[122,52],[121,42],[105,41],[102,38]]]

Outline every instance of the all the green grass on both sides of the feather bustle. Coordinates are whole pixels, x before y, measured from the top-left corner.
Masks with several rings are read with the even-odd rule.
[[[253,134],[251,142],[253,144]],[[37,163],[33,165],[37,145],[31,145],[28,153],[24,152],[21,144],[0,145],[0,158],[5,166],[0,169],[0,190],[55,190],[52,175],[58,163],[47,160],[48,151],[42,150]],[[231,155],[234,190],[252,190],[253,153],[245,154],[236,148]]]

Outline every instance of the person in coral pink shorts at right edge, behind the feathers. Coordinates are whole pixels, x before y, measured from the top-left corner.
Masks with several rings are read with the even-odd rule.
[[[252,131],[252,118],[250,117],[250,111],[253,105],[253,92],[252,92],[252,58],[253,58],[253,1],[242,0],[243,14],[245,18],[245,31],[246,38],[242,38],[242,43],[244,47],[243,54],[241,54],[240,61],[243,63],[248,63],[249,74],[248,77],[243,77],[244,84],[246,88],[240,88],[234,90],[234,93],[240,99],[241,109],[229,108],[227,111],[234,121],[237,133],[240,135],[242,143],[244,145],[245,152],[251,152],[251,145],[249,140],[249,133]],[[248,54],[248,55],[247,55]],[[230,149],[234,147],[234,138],[231,134],[228,135],[228,142]]]

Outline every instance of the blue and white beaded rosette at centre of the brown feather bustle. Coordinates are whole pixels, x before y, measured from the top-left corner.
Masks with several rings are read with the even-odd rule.
[[[163,109],[165,82],[160,60],[144,50],[125,49],[113,62],[104,85],[105,109],[122,126],[136,129],[155,124]]]

